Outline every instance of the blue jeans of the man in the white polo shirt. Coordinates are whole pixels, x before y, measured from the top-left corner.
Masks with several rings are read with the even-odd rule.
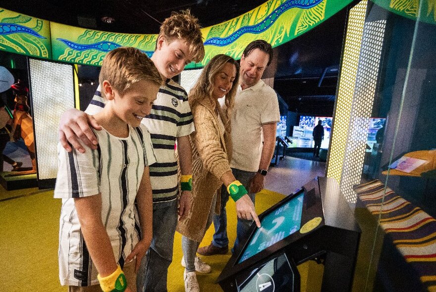
[[[256,175],[256,172],[240,170],[236,168],[232,168],[232,173],[234,177],[241,182],[241,184],[247,189],[250,184],[251,179]],[[253,193],[248,194],[253,201],[255,200],[255,195]],[[228,245],[228,237],[227,237],[227,213],[225,211],[225,205],[227,204],[229,195],[227,193],[227,189],[222,186],[221,187],[221,210],[219,215],[214,215],[214,227],[215,234],[212,243],[218,247],[225,247]],[[238,223],[236,225],[236,240],[233,244],[232,252],[238,250],[242,246],[238,246],[241,242],[243,243],[248,236],[248,230],[253,221],[245,220],[238,218]]]

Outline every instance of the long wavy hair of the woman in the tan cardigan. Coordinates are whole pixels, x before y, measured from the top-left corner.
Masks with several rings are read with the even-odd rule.
[[[213,57],[209,63],[203,68],[203,72],[201,72],[200,77],[198,78],[197,83],[195,83],[194,87],[189,91],[189,105],[194,107],[194,105],[203,100],[205,98],[211,98],[212,92],[214,91],[214,80],[215,76],[219,73],[222,67],[226,63],[233,64],[236,68],[236,76],[233,80],[232,88],[225,95],[225,105],[227,107],[226,116],[227,116],[227,124],[230,122],[231,110],[235,105],[235,95],[238,89],[239,82],[239,64],[230,56],[224,54],[218,54]],[[213,104],[217,106],[217,101],[213,100]],[[227,124],[225,125],[227,127]]]

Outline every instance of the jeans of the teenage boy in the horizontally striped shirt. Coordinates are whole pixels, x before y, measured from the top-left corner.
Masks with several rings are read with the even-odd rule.
[[[177,200],[153,204],[153,239],[136,277],[138,292],[166,292],[177,225]]]

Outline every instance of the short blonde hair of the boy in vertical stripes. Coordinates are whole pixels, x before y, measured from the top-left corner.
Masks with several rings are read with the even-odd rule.
[[[120,94],[141,80],[151,81],[158,86],[163,84],[161,74],[152,60],[139,49],[131,47],[113,49],[105,56],[99,76],[100,85],[105,80]],[[105,95],[103,90],[102,95]]]

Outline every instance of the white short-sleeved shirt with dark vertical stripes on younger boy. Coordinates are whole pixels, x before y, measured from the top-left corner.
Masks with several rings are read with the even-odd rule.
[[[120,266],[139,241],[134,205],[144,168],[155,163],[150,133],[144,125],[129,127],[127,138],[94,131],[97,150],[71,153],[58,146],[59,170],[54,197],[62,198],[59,228],[59,278],[62,285],[97,285],[97,269],[86,248],[75,197],[102,194],[102,221]],[[150,210],[152,212],[153,210]]]

